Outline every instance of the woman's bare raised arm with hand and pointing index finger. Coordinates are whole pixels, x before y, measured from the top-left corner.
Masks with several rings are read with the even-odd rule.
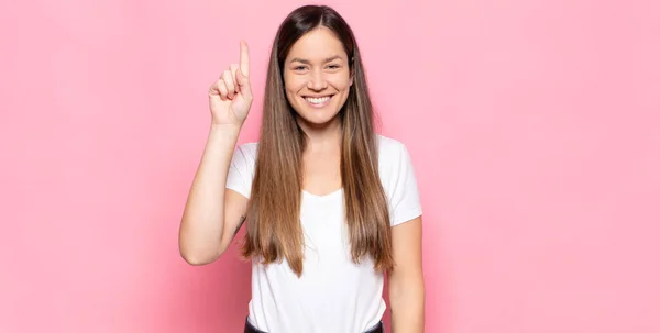
[[[226,185],[252,100],[250,56],[241,42],[240,65],[232,64],[209,89],[211,126],[179,226],[179,252],[190,265],[218,259],[244,219],[248,198]]]

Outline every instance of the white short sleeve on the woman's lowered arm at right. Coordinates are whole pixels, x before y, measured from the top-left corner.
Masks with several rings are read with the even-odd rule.
[[[392,226],[402,224],[421,215],[421,202],[417,187],[415,168],[408,149],[404,144],[398,145],[396,162],[393,165],[391,197]]]

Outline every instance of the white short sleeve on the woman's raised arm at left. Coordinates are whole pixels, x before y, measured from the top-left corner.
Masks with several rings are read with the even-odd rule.
[[[250,198],[254,177],[255,145],[244,144],[237,147],[231,157],[226,188]]]

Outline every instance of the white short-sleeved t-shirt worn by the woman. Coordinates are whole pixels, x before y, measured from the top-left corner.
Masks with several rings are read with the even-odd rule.
[[[380,175],[391,223],[421,215],[417,181],[405,145],[378,135]],[[232,157],[227,188],[250,198],[257,143],[240,145]],[[373,262],[352,262],[343,190],[326,196],[302,191],[300,222],[305,234],[302,276],[284,259],[252,263],[252,300],[248,320],[268,333],[359,333],[376,325],[384,312],[383,274]]]

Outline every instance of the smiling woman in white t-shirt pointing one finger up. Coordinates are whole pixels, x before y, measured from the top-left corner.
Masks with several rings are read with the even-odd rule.
[[[406,147],[374,131],[360,49],[344,20],[306,5],[282,23],[258,143],[235,147],[253,100],[244,42],[240,64],[209,99],[211,130],[179,247],[191,265],[212,263],[246,221],[245,332],[383,332],[385,273],[393,332],[422,332],[416,179]]]

